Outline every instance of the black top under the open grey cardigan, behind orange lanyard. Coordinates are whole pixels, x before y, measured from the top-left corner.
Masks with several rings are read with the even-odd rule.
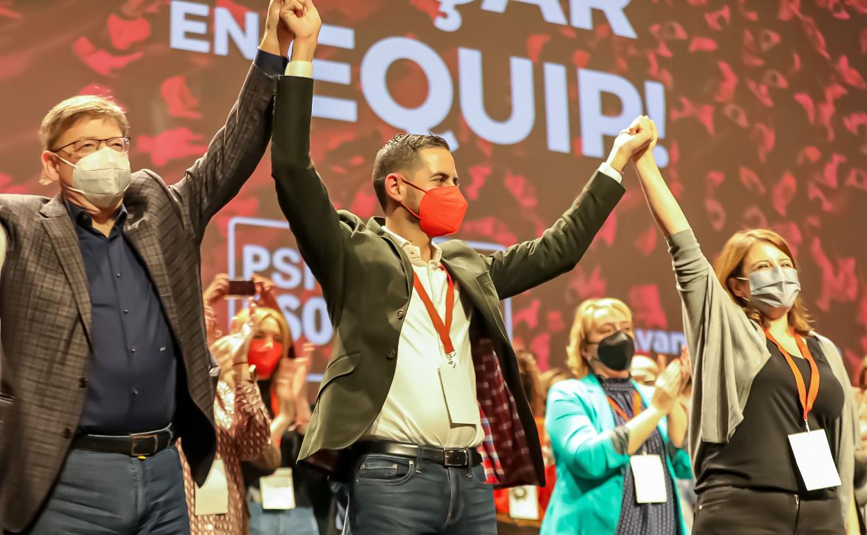
[[[808,417],[810,429],[830,429],[843,413],[844,391],[834,376],[818,339],[810,336],[807,347],[818,366],[819,390]],[[799,493],[810,498],[827,498],[833,489],[807,493],[798,472],[788,435],[805,431],[803,408],[792,369],[777,345],[770,340],[771,358],[759,370],[746,400],[744,420],[727,444],[705,442],[696,459],[696,491],[713,486],[761,488]],[[809,388],[810,363],[792,356]],[[831,455],[837,458],[837,444],[829,440]]]

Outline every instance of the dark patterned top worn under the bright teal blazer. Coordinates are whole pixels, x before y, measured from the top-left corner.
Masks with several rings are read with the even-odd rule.
[[[605,394],[614,401],[623,413],[629,418],[635,417],[632,404],[635,400],[636,388],[631,379],[603,379],[599,378]],[[614,422],[618,426],[626,424],[626,420],[617,413],[614,414]],[[666,462],[666,447],[662,440],[662,434],[655,428],[648,440],[636,454],[655,454]],[[664,470],[666,496],[668,501],[663,504],[639,504],[636,501],[636,481],[632,475],[632,469],[626,466],[623,470],[623,501],[620,508],[620,519],[617,522],[616,533],[629,533],[629,535],[676,535],[681,532],[681,521],[677,514],[675,482],[671,479],[671,473]]]

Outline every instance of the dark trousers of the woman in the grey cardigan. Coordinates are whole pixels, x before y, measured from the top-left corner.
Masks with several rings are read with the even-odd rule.
[[[703,491],[695,506],[693,535],[839,535],[838,499],[799,499],[792,493],[718,486]]]

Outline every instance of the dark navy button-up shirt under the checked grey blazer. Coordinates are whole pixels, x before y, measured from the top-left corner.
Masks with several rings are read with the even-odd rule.
[[[152,431],[172,422],[178,379],[172,330],[145,264],[123,234],[121,206],[108,238],[67,203],[88,276],[93,356],[79,429],[91,434]]]

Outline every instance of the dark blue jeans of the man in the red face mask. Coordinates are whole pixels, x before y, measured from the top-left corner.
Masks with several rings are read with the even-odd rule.
[[[493,486],[481,466],[446,468],[363,455],[349,489],[351,535],[496,535]]]

